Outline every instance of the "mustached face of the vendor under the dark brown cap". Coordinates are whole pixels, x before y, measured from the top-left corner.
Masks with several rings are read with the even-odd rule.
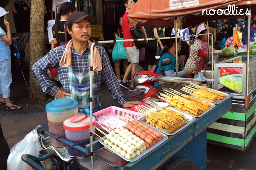
[[[88,42],[91,36],[91,24],[88,19],[83,19],[80,22],[73,23],[72,31],[68,29],[73,41]]]

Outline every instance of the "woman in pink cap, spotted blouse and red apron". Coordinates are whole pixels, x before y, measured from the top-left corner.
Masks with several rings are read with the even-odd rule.
[[[209,32],[212,32],[213,28],[209,27]],[[204,24],[199,25],[197,28],[197,34],[206,34],[207,28],[204,27]],[[210,46],[211,51],[211,46]],[[200,35],[195,38],[194,45],[191,46],[190,56],[187,59],[185,68],[194,68],[191,76],[194,77],[201,70],[203,70],[207,64],[207,55],[208,54],[208,44],[207,44],[207,35]]]

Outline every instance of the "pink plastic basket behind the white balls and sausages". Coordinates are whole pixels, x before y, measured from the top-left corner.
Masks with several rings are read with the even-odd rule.
[[[127,109],[122,109],[122,108],[115,107],[115,106],[110,106],[110,107],[108,107],[106,109],[100,110],[100,111],[95,112],[93,114],[96,117],[96,119],[99,119],[100,117],[105,116],[105,115],[122,116],[128,122],[129,122],[129,118],[125,117],[124,115],[127,115],[127,116],[129,116],[129,117],[131,117],[133,119],[137,119],[137,120],[141,119],[142,117],[144,117],[141,113],[134,112],[134,111],[127,110]],[[107,126],[106,124],[104,124],[102,122],[100,122],[100,124],[102,126],[104,126],[105,129],[107,129],[109,131],[112,131],[112,129],[110,129],[109,126]],[[95,126],[98,127],[99,129],[105,130],[104,128],[102,128],[102,126],[100,124],[98,123],[98,121],[96,121]]]

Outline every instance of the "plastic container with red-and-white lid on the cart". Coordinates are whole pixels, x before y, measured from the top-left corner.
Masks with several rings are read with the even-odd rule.
[[[92,131],[95,132],[96,119],[92,117]],[[90,118],[88,115],[79,115],[68,118],[64,121],[63,127],[65,129],[66,139],[72,143],[79,143],[81,147],[85,147],[90,143]],[[75,156],[85,157],[87,156],[84,152],[77,149],[73,149]],[[68,152],[73,155],[71,146],[68,146]]]

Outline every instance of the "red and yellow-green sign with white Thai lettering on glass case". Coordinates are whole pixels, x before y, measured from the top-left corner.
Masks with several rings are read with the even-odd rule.
[[[243,91],[243,68],[241,67],[220,67],[219,68],[219,82],[225,87],[242,93]]]

